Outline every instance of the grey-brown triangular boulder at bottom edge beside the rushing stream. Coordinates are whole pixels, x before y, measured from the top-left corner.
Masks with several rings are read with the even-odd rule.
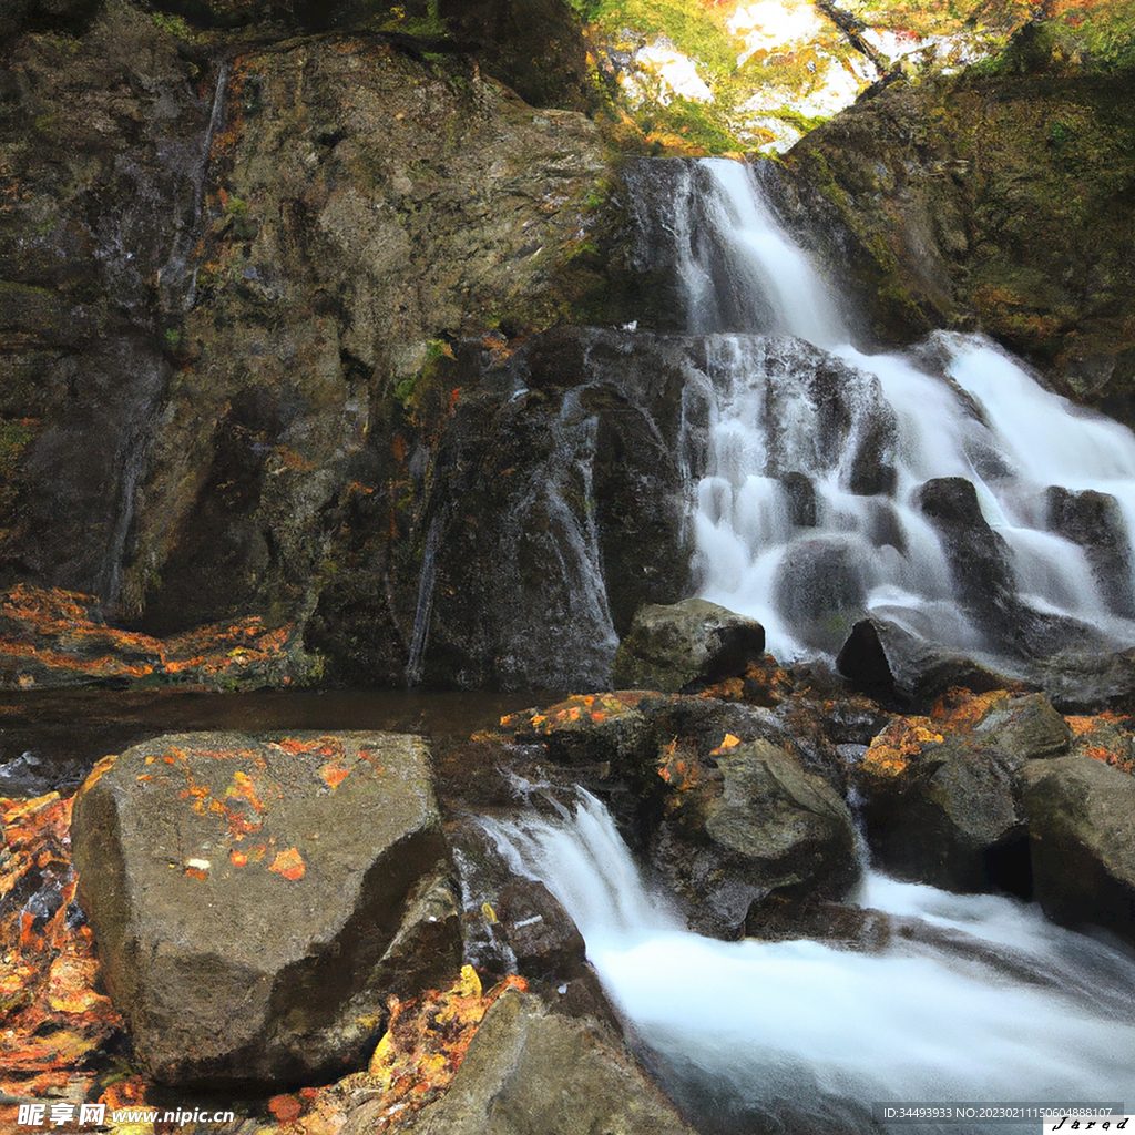
[[[370,1117],[350,1135],[373,1130]],[[448,1093],[413,1135],[692,1135],[619,1039],[506,990],[485,1015]]]

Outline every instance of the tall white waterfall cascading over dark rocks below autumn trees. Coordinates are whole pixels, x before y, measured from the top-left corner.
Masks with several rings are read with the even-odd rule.
[[[1025,603],[1090,623],[1117,647],[1135,642],[1135,623],[1109,609],[1084,549],[1048,530],[1044,499],[1049,486],[1110,494],[1135,531],[1129,430],[1044,390],[982,336],[942,333],[908,354],[863,353],[748,167],[700,162],[686,194],[698,222],[678,224],[675,243],[690,329],[709,334],[716,401],[693,522],[705,598],[758,619],[782,658],[836,650],[865,612],[1002,655],[1007,645],[967,616],[910,499],[931,478],[962,477],[1007,541]],[[849,370],[823,373],[833,362]],[[882,440],[871,456],[873,432]],[[881,464],[892,484],[855,484],[857,469]],[[789,473],[814,489],[814,526],[793,523]]]

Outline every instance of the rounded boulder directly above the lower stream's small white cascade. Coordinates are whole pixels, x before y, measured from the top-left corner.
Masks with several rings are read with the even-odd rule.
[[[730,734],[699,760],[670,745],[659,773],[670,791],[650,859],[692,928],[735,938],[771,891],[839,898],[858,877],[847,805],[779,746]]]

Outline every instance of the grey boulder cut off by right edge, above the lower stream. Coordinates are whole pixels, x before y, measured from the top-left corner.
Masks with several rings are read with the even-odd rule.
[[[1044,913],[1135,939],[1135,776],[1090,756],[1037,760],[1022,775]]]

